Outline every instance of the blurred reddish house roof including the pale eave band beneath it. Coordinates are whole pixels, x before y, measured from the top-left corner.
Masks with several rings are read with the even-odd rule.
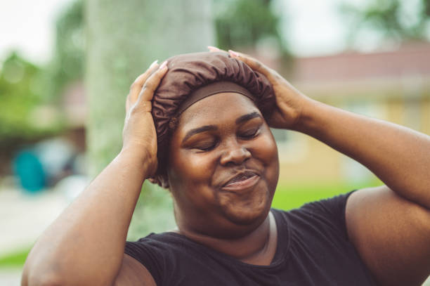
[[[290,81],[320,96],[429,96],[430,43],[391,51],[295,58]]]

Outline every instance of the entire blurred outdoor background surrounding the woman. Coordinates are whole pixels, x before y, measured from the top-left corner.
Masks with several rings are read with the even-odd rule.
[[[37,237],[117,155],[129,85],[155,59],[243,51],[311,98],[430,134],[429,0],[16,0],[0,19],[0,285],[19,285]],[[274,207],[380,184],[273,133]],[[145,183],[129,240],[173,226],[169,193]]]

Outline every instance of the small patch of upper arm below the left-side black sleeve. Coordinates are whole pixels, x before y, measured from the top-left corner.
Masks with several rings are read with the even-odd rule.
[[[143,285],[143,286],[156,286],[154,278],[139,261],[133,257],[124,254],[122,259],[121,268],[115,279],[115,286],[127,285]]]

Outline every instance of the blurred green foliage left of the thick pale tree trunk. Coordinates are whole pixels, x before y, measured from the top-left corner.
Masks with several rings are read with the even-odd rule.
[[[38,67],[16,53],[4,60],[0,73],[0,153],[11,153],[19,145],[63,130],[64,122],[55,106],[64,87],[84,74],[82,10],[79,0],[58,18],[56,52],[50,65]]]

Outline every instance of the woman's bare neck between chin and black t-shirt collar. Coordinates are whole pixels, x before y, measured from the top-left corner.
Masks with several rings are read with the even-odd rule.
[[[178,224],[177,232],[218,252],[255,265],[271,264],[278,241],[275,219],[270,212],[260,226],[241,238],[213,238],[190,230],[181,224]]]

